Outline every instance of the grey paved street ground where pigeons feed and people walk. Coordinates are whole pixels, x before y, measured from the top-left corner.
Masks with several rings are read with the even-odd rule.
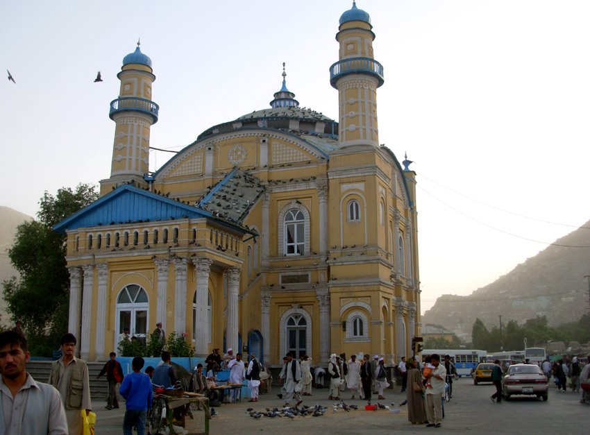
[[[210,421],[211,434],[277,434],[283,430],[305,434],[390,434],[407,432],[412,434],[424,432],[475,433],[475,434],[523,434],[555,433],[581,434],[587,432],[590,420],[590,406],[579,402],[578,393],[559,393],[552,386],[548,402],[536,398],[515,398],[510,402],[494,404],[489,400],[493,393],[492,384],[474,386],[470,378],[459,379],[453,384],[453,400],[445,404],[446,418],[441,429],[412,425],[407,421],[407,411],[394,414],[387,410],[365,411],[363,400],[348,400],[351,394],[346,392],[341,397],[347,404],[358,404],[358,411],[346,412],[339,409],[336,413],[328,411],[321,417],[267,418],[255,420],[248,416],[246,409],[264,411],[265,408],[280,407],[282,400],[276,397],[278,388],[272,393],[260,395],[258,403],[247,400],[235,404],[222,404],[217,407],[219,415]],[[399,393],[399,386],[387,390],[383,404],[396,408],[405,398]],[[314,389],[312,396],[305,396],[303,404],[315,403],[332,408],[328,400],[328,389]],[[375,401],[373,401],[375,402]],[[97,413],[96,434],[121,434],[124,409],[104,409],[106,402],[93,402]]]

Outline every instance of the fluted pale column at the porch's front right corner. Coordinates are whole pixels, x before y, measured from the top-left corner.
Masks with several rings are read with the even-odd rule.
[[[211,271],[212,259],[193,258],[192,263],[196,275],[196,307],[194,314],[194,355],[196,357],[207,357],[209,355],[209,273]]]

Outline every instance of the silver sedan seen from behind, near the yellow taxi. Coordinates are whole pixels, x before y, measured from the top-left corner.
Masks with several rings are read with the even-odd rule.
[[[512,395],[536,395],[547,401],[549,384],[539,366],[534,364],[512,364],[502,379],[504,398],[510,400]]]

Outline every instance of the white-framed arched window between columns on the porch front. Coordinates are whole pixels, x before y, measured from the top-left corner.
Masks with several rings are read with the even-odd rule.
[[[142,343],[146,343],[148,334],[149,300],[146,291],[137,284],[123,287],[117,297],[117,336],[125,328],[129,328],[129,335],[136,336]]]

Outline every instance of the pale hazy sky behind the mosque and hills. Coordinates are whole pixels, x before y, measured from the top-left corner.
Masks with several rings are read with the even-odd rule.
[[[15,1],[0,15],[0,205],[110,174],[121,61],[153,62],[151,146],[269,107],[287,87],[337,120],[329,67],[349,0]],[[422,311],[493,282],[590,219],[590,1],[359,0],[379,139],[417,173]],[[96,71],[103,82],[93,83]],[[169,153],[152,152],[150,169]],[[526,216],[526,217],[524,217]],[[549,223],[550,222],[550,223]],[[589,266],[590,267],[590,266]],[[590,273],[590,270],[589,270]],[[584,288],[580,277],[580,288]]]

